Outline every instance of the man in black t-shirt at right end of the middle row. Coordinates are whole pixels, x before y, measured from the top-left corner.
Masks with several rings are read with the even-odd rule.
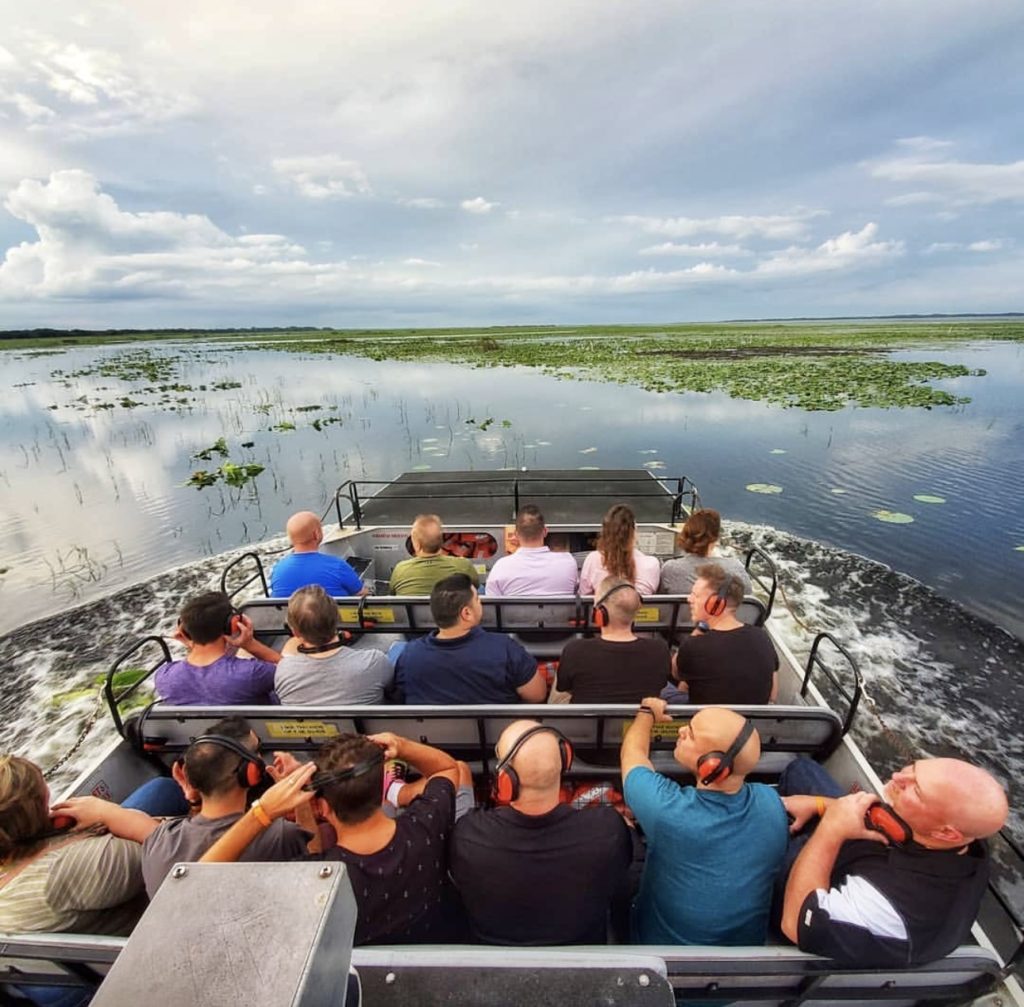
[[[712,704],[774,703],[778,693],[778,656],[763,626],[736,619],[743,585],[716,563],[697,569],[690,591],[693,633],[680,641],[675,676],[688,690],[687,702]]]

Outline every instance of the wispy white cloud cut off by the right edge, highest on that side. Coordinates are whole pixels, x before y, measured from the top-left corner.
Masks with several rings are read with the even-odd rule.
[[[896,197],[923,203],[952,206],[984,206],[990,203],[1024,202],[1024,161],[985,163],[955,161],[951,144],[928,137],[914,137],[901,144],[907,154],[867,165],[872,177],[911,184],[913,193]]]

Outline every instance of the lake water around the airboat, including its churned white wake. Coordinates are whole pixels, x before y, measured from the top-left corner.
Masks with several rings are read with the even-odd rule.
[[[885,722],[909,744],[978,753],[1004,779],[1024,770],[1020,343],[895,354],[985,369],[940,383],[969,405],[834,413],[522,369],[140,346],[141,358],[131,346],[0,356],[5,748],[52,759],[92,704],[52,707],[54,690],[90,685],[134,636],[166,631],[180,597],[219,574],[211,557],[279,537],[295,510],[323,512],[347,477],[646,466],[689,475],[735,545],[777,558],[801,619],[851,643]],[[133,360],[164,363],[125,380]],[[219,437],[232,462],[264,470],[242,488],[186,486],[223,461],[193,457]],[[880,510],[913,521],[886,523]],[[806,649],[799,627],[787,631]],[[876,718],[859,720],[861,740],[891,761]]]

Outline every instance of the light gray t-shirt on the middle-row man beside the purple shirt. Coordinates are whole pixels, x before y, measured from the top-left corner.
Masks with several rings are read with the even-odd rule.
[[[286,655],[278,664],[273,689],[285,705],[380,703],[394,669],[383,652],[343,646],[326,658]]]

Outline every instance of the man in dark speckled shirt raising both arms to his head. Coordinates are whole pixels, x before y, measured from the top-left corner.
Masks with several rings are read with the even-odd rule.
[[[397,817],[381,808],[388,759],[423,774],[401,788],[404,810]],[[334,828],[337,845],[301,858],[345,865],[358,910],[355,943],[443,942],[456,935],[446,885],[449,837],[472,800],[469,767],[436,748],[390,733],[340,735],[324,745],[315,765],[298,766],[263,794],[203,861],[238,859],[271,821],[312,801]]]

